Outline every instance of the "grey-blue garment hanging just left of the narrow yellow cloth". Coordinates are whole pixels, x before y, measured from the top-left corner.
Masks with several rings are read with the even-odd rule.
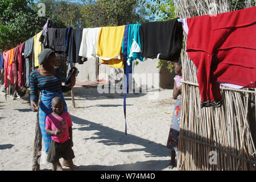
[[[29,82],[29,74],[30,74],[30,67],[32,66],[33,63],[33,47],[34,47],[34,38],[30,38],[29,40],[26,41],[25,46],[24,46],[24,58],[25,58],[25,87],[29,88],[30,87],[30,82]]]

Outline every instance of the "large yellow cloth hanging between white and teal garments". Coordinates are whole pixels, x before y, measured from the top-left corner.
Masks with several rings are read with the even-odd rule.
[[[125,26],[101,28],[97,43],[97,57],[101,59],[102,64],[123,68],[121,51],[124,33]]]

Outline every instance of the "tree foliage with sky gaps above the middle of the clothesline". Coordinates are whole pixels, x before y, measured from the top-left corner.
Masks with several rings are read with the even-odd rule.
[[[73,28],[121,26],[153,20],[137,0],[56,1],[41,0],[46,11]]]

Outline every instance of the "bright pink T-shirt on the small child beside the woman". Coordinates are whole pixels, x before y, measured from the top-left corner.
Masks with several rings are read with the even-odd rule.
[[[61,119],[65,119],[64,122],[61,122]],[[56,131],[62,130],[63,133],[57,137],[56,135],[51,135],[51,139],[58,143],[64,143],[69,139],[69,127],[73,126],[70,114],[63,112],[61,115],[53,115],[53,113],[47,115],[45,120],[45,130]],[[66,127],[66,129],[65,129]]]

